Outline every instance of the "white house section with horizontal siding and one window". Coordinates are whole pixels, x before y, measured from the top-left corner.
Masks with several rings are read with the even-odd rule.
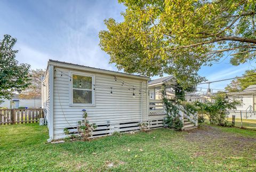
[[[138,128],[148,121],[148,77],[49,60],[42,81],[42,108],[50,140],[75,129],[85,109],[98,125],[94,136]],[[126,129],[127,128],[127,129]]]

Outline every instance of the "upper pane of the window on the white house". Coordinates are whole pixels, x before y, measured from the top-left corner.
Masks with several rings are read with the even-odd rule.
[[[92,77],[73,75],[73,88],[92,89]]]

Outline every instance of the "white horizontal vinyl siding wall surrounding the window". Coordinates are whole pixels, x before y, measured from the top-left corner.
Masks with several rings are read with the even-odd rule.
[[[147,80],[135,79],[128,77],[117,77],[114,75],[105,75],[102,73],[94,73],[79,70],[70,70],[67,68],[54,69],[54,88],[53,88],[53,132],[54,139],[62,138],[63,129],[76,127],[77,121],[82,120],[82,109],[86,109],[88,113],[87,119],[90,123],[95,122],[97,125],[119,124],[122,122],[147,121],[148,119],[148,94],[142,89],[141,95],[139,90],[141,87],[146,88]],[[62,76],[61,76],[61,72]],[[75,106],[71,103],[71,81],[70,72],[88,74],[94,76],[95,91],[94,105]],[[123,80],[126,83],[134,85],[135,97],[133,97],[132,87],[128,90],[129,85],[122,86]],[[113,94],[110,95],[110,87],[113,87]],[[125,89],[117,89],[122,87]],[[142,101],[142,102],[141,102]]]

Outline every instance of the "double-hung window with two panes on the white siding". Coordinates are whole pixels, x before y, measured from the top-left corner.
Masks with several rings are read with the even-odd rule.
[[[93,104],[93,77],[72,75],[73,104]]]

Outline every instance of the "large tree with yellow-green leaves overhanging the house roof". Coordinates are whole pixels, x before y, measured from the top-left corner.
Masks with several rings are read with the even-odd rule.
[[[174,75],[197,83],[202,65],[231,54],[238,65],[255,59],[253,0],[119,0],[123,22],[105,20],[100,47],[110,63],[129,73]]]

